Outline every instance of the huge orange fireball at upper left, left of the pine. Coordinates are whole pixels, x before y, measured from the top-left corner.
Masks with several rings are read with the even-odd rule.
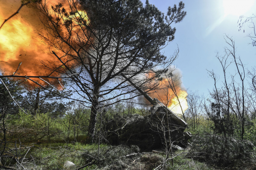
[[[64,0],[61,2],[46,2],[48,6],[54,6],[60,3],[63,7],[69,8],[67,1]],[[0,4],[0,23],[3,23],[4,19],[16,12],[20,6],[20,1],[0,0]],[[12,75],[19,66],[19,63],[22,62],[17,72],[19,75],[60,76],[58,73],[51,73],[49,69],[42,66],[49,63],[54,67],[65,68],[61,66],[59,60],[50,52],[53,49],[51,49],[49,45],[46,45],[41,36],[38,35],[38,32],[44,34],[45,26],[41,22],[44,17],[45,16],[42,15],[39,9],[24,6],[17,15],[9,19],[0,29],[0,72],[3,75]],[[89,23],[87,14],[84,11],[78,11],[78,13],[66,16],[63,22],[64,20],[72,20],[74,17],[85,18],[84,20]],[[49,34],[47,34],[47,36],[53,38]],[[15,78],[15,80],[19,79]],[[34,78],[33,80],[41,85],[48,86],[45,81],[39,80],[38,78]],[[51,80],[47,78],[45,80],[51,84],[55,84],[57,88],[61,89],[61,85],[56,79]],[[31,81],[27,81],[26,84],[35,86]]]

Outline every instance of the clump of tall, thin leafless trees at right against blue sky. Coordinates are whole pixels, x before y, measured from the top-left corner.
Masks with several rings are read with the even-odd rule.
[[[221,89],[217,87],[218,76],[208,70],[208,74],[214,80],[214,91],[211,93],[211,109],[206,110],[210,118],[214,121],[215,132],[224,136],[233,136],[235,129],[240,129],[240,138],[244,139],[245,119],[246,119],[246,98],[245,98],[245,69],[240,57],[237,57],[235,42],[226,35],[228,47],[225,47],[225,55],[217,58],[222,65],[224,81]],[[233,64],[236,73],[230,75],[228,82],[226,70]],[[238,81],[237,81],[238,79]]]

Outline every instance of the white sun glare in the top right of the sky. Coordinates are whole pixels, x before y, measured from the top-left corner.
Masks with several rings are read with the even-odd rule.
[[[243,15],[251,9],[255,0],[223,0],[223,8],[225,16],[227,15]]]

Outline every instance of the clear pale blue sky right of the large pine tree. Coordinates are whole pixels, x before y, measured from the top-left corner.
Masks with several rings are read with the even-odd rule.
[[[144,2],[144,1],[143,1]],[[215,57],[217,52],[224,54],[227,46],[225,34],[232,36],[245,67],[251,69],[256,65],[255,47],[248,45],[251,39],[246,37],[252,30],[245,25],[245,33],[238,32],[239,15],[251,16],[256,9],[255,0],[184,0],[187,16],[181,23],[175,25],[177,31],[173,42],[163,52],[170,56],[177,45],[180,49],[179,58],[175,64],[181,69],[183,83],[188,90],[199,90],[208,94],[214,86],[214,81],[208,77],[207,70],[214,69],[219,76],[222,67]],[[167,7],[178,4],[178,0],[149,0],[160,11],[166,13]],[[174,27],[174,26],[173,26]],[[229,72],[234,74],[235,68]],[[222,83],[220,79],[219,85]]]

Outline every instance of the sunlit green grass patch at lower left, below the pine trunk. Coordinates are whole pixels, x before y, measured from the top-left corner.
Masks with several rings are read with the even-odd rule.
[[[102,144],[100,148],[104,148],[105,146]],[[85,145],[81,143],[68,144],[68,146],[64,143],[52,143],[49,146],[39,145],[38,147],[33,147],[30,155],[33,155],[40,169],[48,170],[63,169],[65,161],[75,163],[76,168],[86,165],[90,161],[90,157],[83,153],[97,157],[98,150],[97,145]]]

